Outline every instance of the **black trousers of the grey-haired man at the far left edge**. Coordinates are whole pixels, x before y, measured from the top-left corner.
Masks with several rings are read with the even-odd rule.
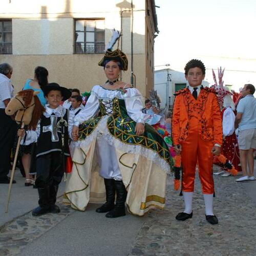
[[[17,133],[17,124],[0,109],[0,180],[6,179],[11,168],[11,149]]]

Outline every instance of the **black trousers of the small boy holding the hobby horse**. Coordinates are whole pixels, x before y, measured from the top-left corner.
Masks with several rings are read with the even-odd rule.
[[[58,185],[63,177],[62,155],[58,151],[37,157],[36,181],[41,207],[53,206],[56,203]]]

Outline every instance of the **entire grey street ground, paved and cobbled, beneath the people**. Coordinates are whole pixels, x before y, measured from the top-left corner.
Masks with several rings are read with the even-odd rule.
[[[80,212],[61,205],[61,198],[60,214],[32,217],[26,212],[35,207],[37,191],[25,187],[18,173],[15,177],[11,216],[2,215],[8,185],[0,185],[0,220],[23,216],[0,227],[0,255],[255,255],[256,181],[238,183],[235,177],[215,176],[214,209],[219,224],[212,226],[205,220],[198,177],[193,218],[185,222],[175,220],[183,210],[183,199],[170,185],[166,208],[144,217],[127,214],[107,219],[95,212],[97,205],[89,204]],[[64,186],[61,183],[62,191]]]

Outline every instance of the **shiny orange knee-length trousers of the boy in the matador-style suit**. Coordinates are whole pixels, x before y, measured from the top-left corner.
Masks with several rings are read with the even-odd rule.
[[[194,191],[198,163],[203,194],[214,194],[211,153],[213,146],[214,143],[203,140],[199,132],[189,133],[186,141],[181,143],[182,191]]]

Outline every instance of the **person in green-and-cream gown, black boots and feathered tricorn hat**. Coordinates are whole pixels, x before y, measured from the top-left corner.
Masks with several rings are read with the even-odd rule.
[[[140,92],[118,80],[128,65],[122,51],[111,50],[119,37],[114,31],[99,62],[108,80],[92,88],[86,106],[74,118],[72,136],[80,147],[74,151],[64,199],[85,210],[89,202],[106,198],[96,212],[108,212],[108,218],[124,216],[125,202],[138,216],[162,209],[171,164],[166,143],[145,123],[149,116],[141,112]]]

